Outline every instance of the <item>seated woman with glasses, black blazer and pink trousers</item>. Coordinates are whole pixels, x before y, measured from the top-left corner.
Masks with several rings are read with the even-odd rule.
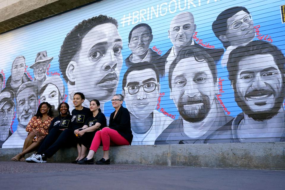
[[[101,142],[104,155],[96,164],[110,164],[110,145],[130,145],[132,143],[131,117],[129,110],[122,106],[123,99],[124,97],[121,94],[113,96],[112,105],[115,111],[110,115],[109,127],[96,132],[87,157],[78,161],[78,164],[94,164],[93,156]]]

